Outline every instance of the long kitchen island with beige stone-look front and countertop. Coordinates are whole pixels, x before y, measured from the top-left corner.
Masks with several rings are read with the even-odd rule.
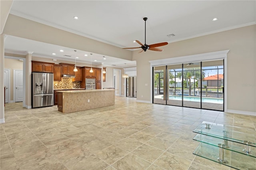
[[[113,89],[57,91],[58,111],[72,113],[112,106],[115,104]]]

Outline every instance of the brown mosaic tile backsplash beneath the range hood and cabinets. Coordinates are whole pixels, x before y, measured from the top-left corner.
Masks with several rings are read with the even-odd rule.
[[[61,78],[61,81],[54,81],[54,89],[80,88],[80,82],[73,82],[72,78]]]

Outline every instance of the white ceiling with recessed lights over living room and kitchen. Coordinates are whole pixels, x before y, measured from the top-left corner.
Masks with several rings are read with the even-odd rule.
[[[42,24],[66,30],[81,36],[118,47],[140,47],[134,40],[144,42],[144,17],[146,43],[176,42],[256,23],[256,1],[250,0],[205,0],[205,1],[145,1],[145,0],[15,0],[11,14],[34,20]],[[73,17],[78,16],[79,20]],[[218,18],[213,22],[213,18]],[[167,37],[174,34],[174,37]],[[60,53],[59,50],[64,52]],[[5,50],[24,54],[33,51],[34,56],[63,58],[72,55],[74,49],[58,45],[34,42],[23,38],[6,36]],[[156,51],[146,51],[155,52]],[[53,56],[52,53],[56,53]],[[88,54],[88,57],[84,57]],[[93,54],[93,60],[103,65],[132,67],[136,61],[127,61]],[[78,51],[78,61],[90,63],[90,52]],[[67,58],[67,57],[66,57]],[[64,58],[64,60],[66,59]]]

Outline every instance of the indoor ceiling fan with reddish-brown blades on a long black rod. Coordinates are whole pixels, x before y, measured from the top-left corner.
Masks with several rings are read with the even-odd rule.
[[[145,17],[145,18],[143,18],[143,20],[145,21],[145,44],[143,45],[140,41],[136,40],[136,42],[138,44],[140,44],[141,47],[131,47],[131,48],[123,48],[123,49],[142,48],[142,50],[139,53],[141,53],[142,51],[147,51],[147,49],[152,50],[152,51],[163,51],[163,49],[156,48],[156,47],[167,45],[168,42],[154,43],[151,45],[146,44],[146,20],[148,20],[148,18]]]

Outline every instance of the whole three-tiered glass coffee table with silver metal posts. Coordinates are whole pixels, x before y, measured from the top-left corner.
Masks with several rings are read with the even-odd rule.
[[[234,127],[202,122],[193,132],[201,142],[193,154],[235,169],[256,170],[256,131],[251,127]]]

